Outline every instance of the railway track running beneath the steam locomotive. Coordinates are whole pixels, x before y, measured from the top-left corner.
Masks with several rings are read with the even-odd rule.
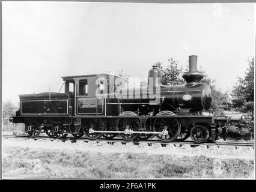
[[[75,137],[66,137],[63,139],[58,139],[56,137],[48,137],[48,136],[39,136],[36,138],[31,138],[29,136],[13,136],[13,135],[2,135],[2,138],[6,138],[6,139],[31,139],[31,140],[61,140],[62,142],[66,142],[67,140],[70,140],[71,142],[76,142],[76,141],[84,141],[84,142],[108,142],[109,144],[114,144],[116,142],[122,143],[122,144],[126,144],[126,143],[133,143],[134,145],[139,145],[139,143],[148,143],[148,146],[151,146],[153,143],[159,143],[161,146],[166,146],[169,144],[172,144],[176,147],[182,146],[182,145],[190,145],[191,147],[196,147],[196,146],[207,146],[207,148],[209,148],[209,146],[234,146],[234,147],[239,147],[239,146],[247,146],[247,147],[252,147],[254,148],[254,143],[237,143],[237,142],[222,142],[222,143],[210,143],[210,142],[205,142],[205,143],[194,143],[192,141],[184,141],[184,142],[169,142],[169,143],[163,143],[159,140],[153,140],[153,139],[148,139],[148,140],[132,140],[132,141],[124,141],[123,139],[104,139],[104,138],[100,138],[100,139],[96,139],[96,140],[90,140],[87,138],[75,138]]]

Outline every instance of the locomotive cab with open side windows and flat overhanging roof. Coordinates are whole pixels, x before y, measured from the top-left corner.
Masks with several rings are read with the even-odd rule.
[[[72,98],[73,114],[106,115],[106,97],[114,94],[117,78],[110,74],[62,77],[65,92]]]

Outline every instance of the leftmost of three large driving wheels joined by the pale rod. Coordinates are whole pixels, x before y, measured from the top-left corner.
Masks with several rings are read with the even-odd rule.
[[[90,140],[99,139],[103,133],[90,133],[90,129],[94,131],[104,131],[105,127],[102,119],[87,119],[84,124],[82,124],[82,130],[84,131],[85,137]]]

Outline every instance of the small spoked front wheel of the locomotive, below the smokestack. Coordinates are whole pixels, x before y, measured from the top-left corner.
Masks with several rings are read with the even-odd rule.
[[[209,131],[204,125],[195,125],[190,131],[190,137],[195,143],[203,143],[209,137]]]

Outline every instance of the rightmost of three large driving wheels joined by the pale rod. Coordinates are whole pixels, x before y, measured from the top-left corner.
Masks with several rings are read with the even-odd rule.
[[[154,121],[154,131],[168,131],[168,134],[156,134],[162,142],[171,142],[180,134],[180,122],[176,118],[157,118]]]

